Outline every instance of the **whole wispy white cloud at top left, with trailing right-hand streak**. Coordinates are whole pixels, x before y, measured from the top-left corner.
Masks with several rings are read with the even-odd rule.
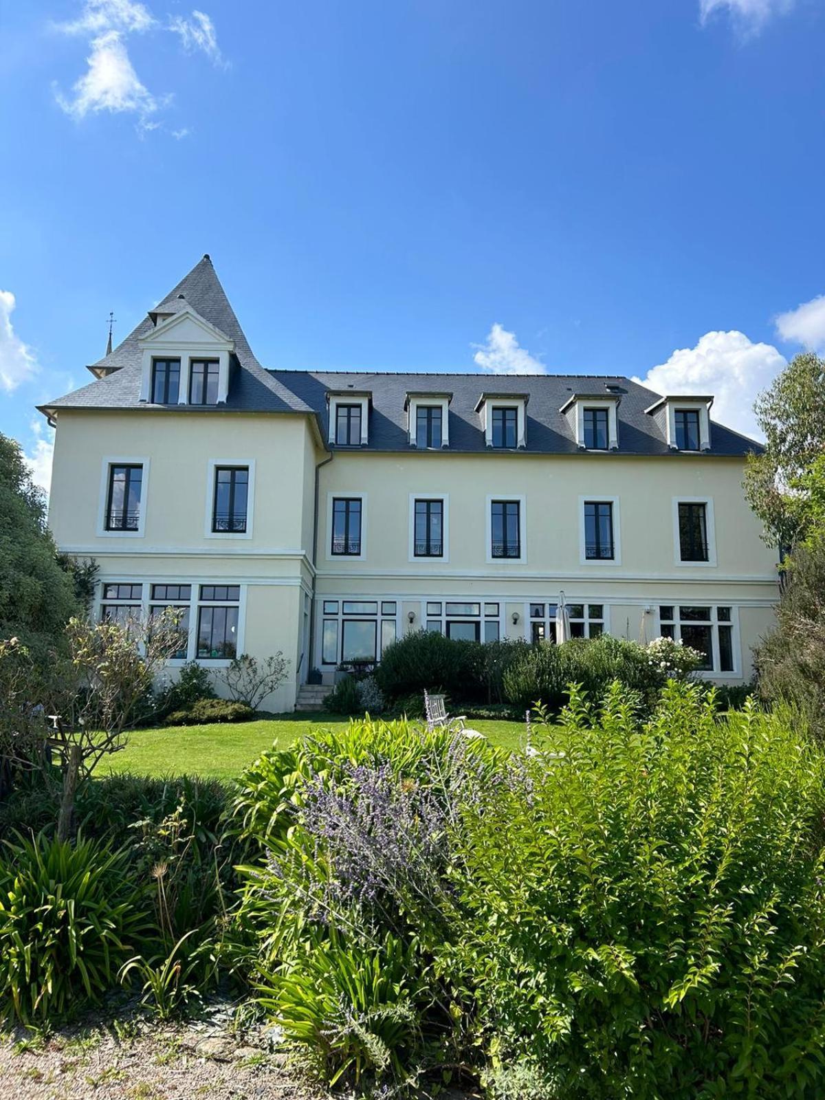
[[[140,0],[85,0],[77,19],[55,25],[63,34],[86,37],[89,45],[87,72],[74,84],[70,95],[55,92],[62,109],[78,121],[101,111],[133,114],[141,136],[166,129],[158,114],[172,96],[151,91],[139,77],[127,45],[130,35],[174,33],[186,53],[201,52],[213,64],[227,67],[215,24],[201,11],[163,23]],[[189,130],[179,127],[169,132],[179,140]]]

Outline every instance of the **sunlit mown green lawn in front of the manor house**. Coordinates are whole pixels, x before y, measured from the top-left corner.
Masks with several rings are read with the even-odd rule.
[[[329,714],[279,714],[258,722],[135,729],[128,735],[124,749],[103,759],[99,772],[237,779],[248,765],[272,748],[275,739],[285,748],[314,726],[339,728],[345,727],[348,721]],[[468,726],[505,748],[516,748],[524,740],[524,723],[471,719]]]

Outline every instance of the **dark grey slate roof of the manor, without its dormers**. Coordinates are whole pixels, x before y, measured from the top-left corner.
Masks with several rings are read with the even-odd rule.
[[[660,395],[620,375],[267,371],[255,359],[208,255],[173,287],[152,312],[177,312],[184,301],[234,341],[237,364],[230,380],[229,397],[226,405],[209,407],[210,415],[220,415],[224,410],[315,414],[326,440],[329,395],[370,393],[370,442],[366,449],[409,451],[406,395],[414,392],[452,394],[449,407],[450,451],[485,452],[484,432],[475,409],[483,393],[495,392],[497,395],[529,397],[526,406],[528,452],[575,454],[579,448],[570,422],[560,409],[574,394],[609,397],[618,393],[618,453],[674,453],[668,448],[654,418],[645,411],[659,400]],[[168,308],[164,310],[164,306]],[[112,373],[40,406],[41,411],[52,415],[62,408],[164,409],[164,406],[147,406],[139,399],[142,352],[138,341],[153,328],[152,320],[146,316],[110,354],[94,364],[95,369]],[[175,413],[185,413],[186,409],[186,406],[174,406]],[[199,406],[198,411],[202,413],[205,408]],[[759,444],[712,421],[711,453],[733,457],[752,450],[760,450]]]

